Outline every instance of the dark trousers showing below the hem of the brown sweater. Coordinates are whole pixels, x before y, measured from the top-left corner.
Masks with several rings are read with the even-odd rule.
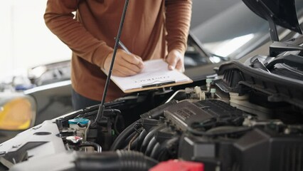
[[[79,93],[75,92],[75,90],[73,89],[72,103],[74,110],[80,110],[83,108],[90,107],[92,105],[98,105],[101,102],[97,100],[92,100],[90,98],[85,98],[83,95],[80,95]]]

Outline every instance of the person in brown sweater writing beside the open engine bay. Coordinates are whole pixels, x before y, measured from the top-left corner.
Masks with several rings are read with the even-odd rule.
[[[169,69],[184,71],[191,21],[191,0],[131,0],[120,40],[131,55],[118,49],[112,76],[132,76],[143,61],[165,58]],[[46,26],[72,50],[71,81],[75,110],[100,103],[112,61],[124,1],[48,0]],[[111,83],[105,101],[124,95]]]

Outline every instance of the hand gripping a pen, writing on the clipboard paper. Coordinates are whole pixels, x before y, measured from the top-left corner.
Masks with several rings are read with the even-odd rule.
[[[112,52],[113,53],[113,52]],[[105,59],[104,68],[105,71],[110,71],[110,63],[112,62],[112,53],[110,53]],[[115,63],[112,68],[113,76],[133,76],[141,72],[144,68],[142,58],[136,55],[129,55],[122,49],[117,49]]]

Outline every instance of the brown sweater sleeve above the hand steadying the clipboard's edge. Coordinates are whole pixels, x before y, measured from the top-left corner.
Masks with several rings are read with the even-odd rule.
[[[177,49],[184,53],[191,22],[191,0],[166,0],[166,41],[168,51]]]

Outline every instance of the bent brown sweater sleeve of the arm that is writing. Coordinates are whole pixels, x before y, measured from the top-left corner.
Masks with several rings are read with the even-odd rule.
[[[48,0],[44,20],[46,26],[77,56],[103,67],[106,56],[112,52],[105,41],[98,40],[74,19],[80,0]]]

